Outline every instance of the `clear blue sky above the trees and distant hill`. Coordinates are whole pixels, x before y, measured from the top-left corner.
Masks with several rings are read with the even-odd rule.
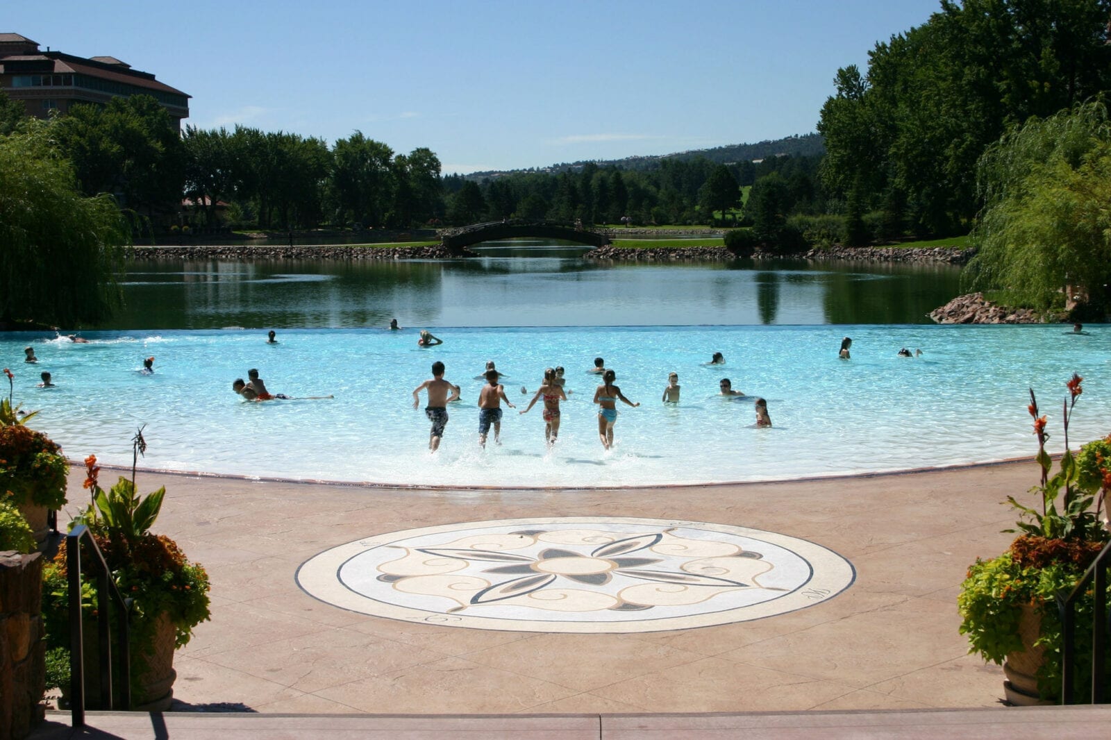
[[[112,56],[200,128],[428,147],[444,173],[815,130],[839,67],[939,0],[7,0],[0,32]]]

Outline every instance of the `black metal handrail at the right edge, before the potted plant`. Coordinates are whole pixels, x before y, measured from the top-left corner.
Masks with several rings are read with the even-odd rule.
[[[1063,600],[1058,598],[1058,609],[1061,613],[1061,703],[1071,703],[1075,689],[1077,673],[1077,601],[1083,596],[1091,582],[1094,590],[1092,607],[1092,704],[1108,703],[1104,673],[1107,672],[1108,632],[1108,568],[1111,567],[1111,542],[1109,542],[1095,560],[1084,571],[1072,591]]]

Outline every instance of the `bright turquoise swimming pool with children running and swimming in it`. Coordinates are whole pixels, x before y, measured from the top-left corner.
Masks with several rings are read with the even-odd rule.
[[[658,486],[754,481],[900,470],[1032,456],[1027,388],[1049,414],[1051,449],[1063,449],[1060,404],[1072,372],[1084,394],[1075,447],[1111,431],[1111,330],[1073,336],[1053,326],[432,327],[86,332],[88,344],[32,333],[0,334],[14,399],[73,460],[94,453],[131,463],[129,440],[146,424],[141,466],[303,480],[442,487]],[[842,336],[852,360],[837,359]],[[23,363],[31,344],[38,364]],[[920,358],[899,358],[901,347]],[[724,367],[705,367],[724,354]],[[139,372],[153,356],[154,373]],[[617,371],[637,409],[619,404],[617,444],[598,441],[591,403],[595,356]],[[447,364],[462,388],[436,456],[412,389]],[[502,444],[478,446],[476,402],[487,360],[507,373],[518,410],[546,367],[567,368],[559,442],[544,446],[541,404],[508,409]],[[332,400],[246,403],[231,381],[258,368],[271,392]],[[36,388],[48,370],[57,386]],[[682,400],[660,398],[669,372]],[[749,394],[715,396],[722,377]],[[7,390],[7,389],[4,389]],[[772,429],[753,427],[753,396],[768,399]],[[424,398],[421,398],[423,408]],[[1031,479],[1033,480],[1033,479]]]

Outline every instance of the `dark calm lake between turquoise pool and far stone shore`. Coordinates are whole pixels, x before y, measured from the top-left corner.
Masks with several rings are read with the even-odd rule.
[[[110,329],[929,323],[948,264],[618,263],[582,247],[458,260],[137,261]],[[570,253],[569,253],[570,252]]]

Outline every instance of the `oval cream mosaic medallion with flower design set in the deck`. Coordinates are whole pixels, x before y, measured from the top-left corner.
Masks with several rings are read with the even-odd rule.
[[[376,617],[528,632],[652,632],[811,607],[852,566],[743,527],[620,518],[501,519],[390,532],[304,562],[298,583]]]

